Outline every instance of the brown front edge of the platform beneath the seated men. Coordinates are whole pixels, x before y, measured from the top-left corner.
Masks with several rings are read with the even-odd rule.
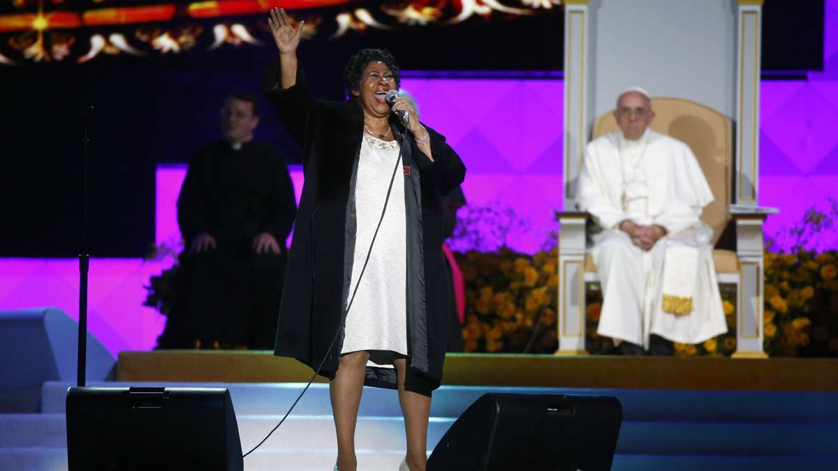
[[[123,351],[117,380],[308,382],[268,351]],[[318,382],[325,378],[317,378]],[[838,360],[448,354],[443,385],[698,391],[838,391]]]

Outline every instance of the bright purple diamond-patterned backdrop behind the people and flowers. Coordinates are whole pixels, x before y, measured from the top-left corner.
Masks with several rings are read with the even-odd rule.
[[[826,2],[825,71],[809,80],[762,82],[760,204],[777,206],[767,235],[810,207],[838,198],[838,0]],[[533,251],[555,227],[561,189],[561,80],[406,78],[422,120],[444,133],[468,167],[469,204],[515,210],[530,230],[510,246]],[[302,175],[293,172],[297,192]],[[177,239],[174,201],[184,168],[158,171],[156,235]],[[298,193],[297,193],[298,195]],[[838,247],[824,235],[821,247]],[[148,277],[171,264],[139,259],[91,261],[90,330],[112,353],[150,349],[165,318],[143,308]],[[0,309],[56,306],[78,318],[78,261],[0,259]]]

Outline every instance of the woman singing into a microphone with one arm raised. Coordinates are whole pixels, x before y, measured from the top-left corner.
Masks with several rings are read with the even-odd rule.
[[[357,467],[365,385],[398,390],[407,437],[400,470],[425,469],[431,392],[442,380],[450,325],[441,198],[463,182],[465,167],[406,100],[386,101],[400,82],[389,52],[361,49],[349,59],[348,101],[315,100],[297,67],[303,23],[293,25],[282,9],[269,22],[279,60],[262,85],[303,147],[306,177],[274,353],[323,364],[336,469]]]

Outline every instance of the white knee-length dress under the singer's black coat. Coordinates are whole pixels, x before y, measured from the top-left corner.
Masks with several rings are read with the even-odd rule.
[[[385,142],[366,133],[361,139],[354,189],[357,231],[349,299],[370,250],[397,158],[398,142]],[[405,185],[400,168],[370,261],[346,316],[341,353],[377,350],[371,355],[370,365],[391,365],[396,356],[393,353],[407,355],[406,241]]]

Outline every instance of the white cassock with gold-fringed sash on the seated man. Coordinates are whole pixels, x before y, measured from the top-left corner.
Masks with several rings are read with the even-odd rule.
[[[603,287],[597,333],[649,348],[649,334],[698,344],[727,332],[710,245],[701,222],[713,194],[684,143],[647,129],[637,141],[612,132],[588,143],[577,204],[602,228],[593,261]],[[661,225],[650,251],[618,230],[623,220]]]

